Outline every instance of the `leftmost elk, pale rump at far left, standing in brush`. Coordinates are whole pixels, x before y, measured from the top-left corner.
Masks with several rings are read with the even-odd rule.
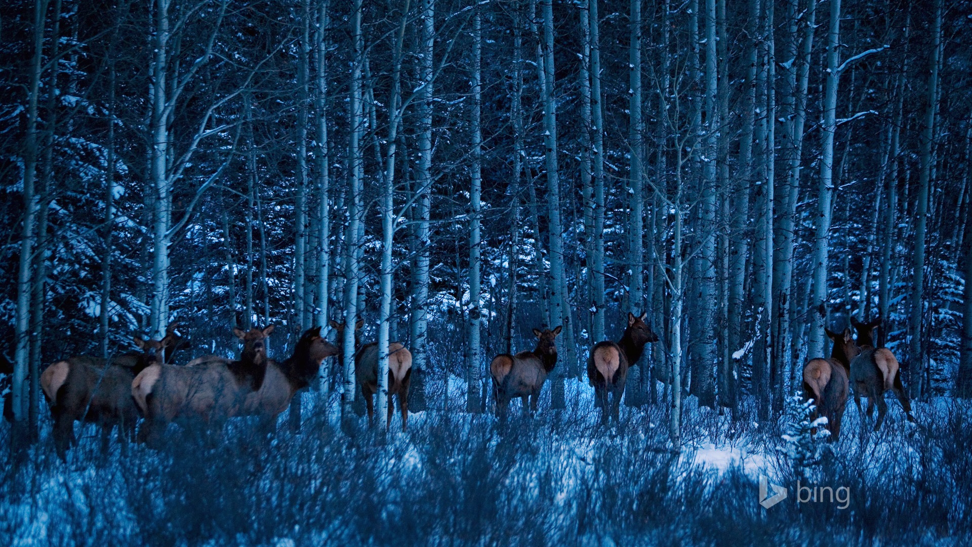
[[[136,336],[137,355],[120,355],[107,364],[98,357],[70,357],[53,363],[41,375],[41,388],[51,407],[53,439],[62,459],[75,444],[74,422],[101,426],[101,450],[107,452],[112,428],[118,426],[122,450],[135,430],[139,412],[131,399],[131,383],[147,367],[157,365],[171,346],[179,344],[170,329],[161,341]]]

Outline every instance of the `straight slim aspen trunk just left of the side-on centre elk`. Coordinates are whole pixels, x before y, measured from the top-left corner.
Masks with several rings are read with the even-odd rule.
[[[480,63],[482,62],[482,22],[479,4],[472,15],[472,119],[469,122],[472,138],[471,185],[469,189],[469,351],[466,361],[466,411],[478,413],[480,401],[480,237],[479,202],[482,190],[482,132],[479,127],[480,104],[482,101],[482,81]]]

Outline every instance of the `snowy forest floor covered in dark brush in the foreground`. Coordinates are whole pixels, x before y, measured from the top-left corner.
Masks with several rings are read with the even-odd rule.
[[[458,384],[455,382],[454,384]],[[439,386],[442,387],[441,385]],[[532,419],[397,416],[386,437],[337,426],[304,395],[302,431],[259,438],[244,419],[219,439],[173,429],[159,451],[93,426],[66,463],[42,442],[15,463],[0,456],[4,545],[967,545],[972,538],[972,406],[918,403],[917,426],[889,402],[882,431],[861,434],[851,402],[833,453],[811,486],[850,489],[849,506],[796,502],[781,432],[742,405],[733,421],[689,398],[684,450],[673,455],[667,410],[622,408],[600,426],[590,387],[568,382],[569,408],[541,399]],[[459,401],[451,401],[458,407]],[[0,427],[0,445],[10,429]],[[758,504],[759,475],[789,489]],[[804,485],[805,486],[805,485]],[[822,494],[821,494],[822,497]]]

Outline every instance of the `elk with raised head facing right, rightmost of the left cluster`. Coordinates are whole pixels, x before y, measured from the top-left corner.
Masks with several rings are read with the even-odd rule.
[[[308,329],[297,341],[293,355],[281,363],[267,362],[260,387],[246,395],[240,414],[259,416],[264,428],[272,429],[296,392],[314,382],[321,373],[321,363],[336,354],[337,347],[321,336],[321,327]]]

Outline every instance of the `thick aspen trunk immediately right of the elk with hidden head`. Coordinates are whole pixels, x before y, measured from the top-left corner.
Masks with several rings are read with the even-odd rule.
[[[428,364],[426,349],[429,328],[429,219],[432,210],[432,113],[433,113],[433,55],[435,42],[435,2],[421,1],[422,32],[419,48],[419,93],[418,123],[419,161],[415,170],[415,192],[419,194],[416,218],[416,239],[418,248],[412,265],[412,314],[411,314],[411,351],[412,367],[416,372],[425,372]],[[412,373],[413,378],[415,372]],[[422,383],[412,383],[411,391],[421,391]],[[416,393],[422,398],[423,394]]]

